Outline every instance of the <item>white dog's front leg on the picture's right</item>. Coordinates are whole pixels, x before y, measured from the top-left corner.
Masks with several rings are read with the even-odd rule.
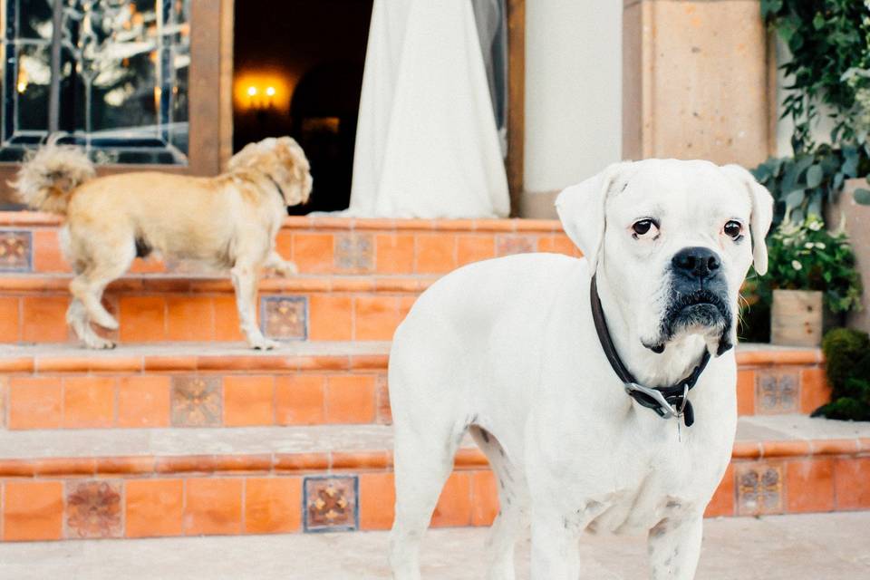
[[[691,580],[701,556],[703,517],[664,519],[650,530],[647,548],[650,553],[652,580]]]

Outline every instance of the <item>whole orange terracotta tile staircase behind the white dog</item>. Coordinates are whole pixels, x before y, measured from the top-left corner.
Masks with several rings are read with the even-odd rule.
[[[121,329],[89,352],[63,323],[58,222],[0,214],[0,536],[4,540],[383,529],[391,523],[389,340],[450,270],[527,251],[577,255],[553,221],[288,218],[264,331],[245,349],[231,286],[137,262],[106,302]],[[708,513],[870,508],[870,430],[808,420],[817,350],[741,347],[738,442]],[[498,511],[463,445],[435,526]]]

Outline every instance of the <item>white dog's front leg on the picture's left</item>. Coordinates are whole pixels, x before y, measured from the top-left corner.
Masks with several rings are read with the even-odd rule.
[[[532,580],[577,580],[580,546],[575,529],[555,511],[532,508]]]

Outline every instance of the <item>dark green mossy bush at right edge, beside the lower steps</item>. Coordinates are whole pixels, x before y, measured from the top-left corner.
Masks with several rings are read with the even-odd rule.
[[[828,419],[870,420],[870,336],[837,328],[822,340],[831,402],[813,416]]]

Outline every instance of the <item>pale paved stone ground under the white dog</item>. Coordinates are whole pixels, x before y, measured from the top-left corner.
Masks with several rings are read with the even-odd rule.
[[[485,529],[427,536],[423,577],[484,577]],[[707,521],[699,580],[870,578],[870,512],[727,517]],[[292,536],[184,537],[0,545],[0,578],[16,580],[302,580],[389,578],[385,532]],[[637,537],[588,536],[586,580],[646,577]],[[528,577],[528,541],[517,553]]]

